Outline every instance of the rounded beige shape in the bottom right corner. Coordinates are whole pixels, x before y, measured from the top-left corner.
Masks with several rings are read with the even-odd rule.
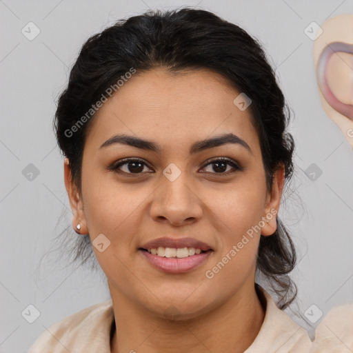
[[[337,305],[316,327],[311,353],[353,352],[353,303]]]

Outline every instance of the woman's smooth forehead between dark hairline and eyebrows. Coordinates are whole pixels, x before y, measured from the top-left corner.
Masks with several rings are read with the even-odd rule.
[[[183,145],[232,132],[256,150],[259,141],[250,109],[234,104],[240,93],[210,70],[137,73],[103,103],[86,143],[103,143],[114,133],[126,133],[158,139],[162,145]]]

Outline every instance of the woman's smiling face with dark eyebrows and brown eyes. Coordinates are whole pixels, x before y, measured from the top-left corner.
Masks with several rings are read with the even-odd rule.
[[[74,227],[101,244],[92,248],[113,301],[159,316],[173,305],[191,318],[254,288],[260,234],[276,230],[283,169],[268,192],[250,109],[233,103],[239,94],[208,70],[136,75],[92,121],[81,194],[66,161]],[[112,139],[122,134],[148,143]],[[161,237],[181,240],[172,248],[192,238],[210,250],[180,259],[141,250]]]

